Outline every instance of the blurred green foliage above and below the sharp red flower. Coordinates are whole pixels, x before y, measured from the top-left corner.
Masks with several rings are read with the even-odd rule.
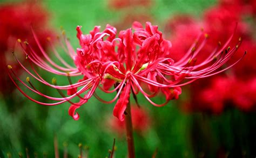
[[[3,3],[3,2],[1,2]],[[158,24],[160,30],[167,19],[180,13],[188,13],[200,18],[204,9],[214,4],[215,1],[154,1],[147,11],[154,19],[153,24]],[[51,25],[60,32],[60,26],[66,31],[74,47],[78,46],[76,39],[76,26],[82,25],[83,32],[88,33],[95,25],[105,26],[107,23],[116,23],[122,20],[125,13],[131,10],[111,10],[107,1],[43,1],[43,4],[52,14]],[[130,26],[127,26],[130,27]],[[58,49],[61,51],[61,49]],[[68,56],[63,56],[70,62]],[[57,60],[56,60],[57,61]],[[68,83],[65,77],[54,76],[39,70],[39,73],[51,82],[52,77],[57,78],[58,84]],[[22,78],[25,80],[26,75]],[[76,82],[79,77],[73,79]],[[11,81],[10,81],[11,82]],[[55,89],[48,89],[42,84],[35,83],[38,89],[49,95],[58,96]],[[25,89],[24,89],[25,90]],[[25,90],[31,94],[28,90]],[[100,94],[100,93],[99,93]],[[100,94],[101,96],[103,94]],[[43,100],[42,97],[33,96]],[[103,96],[110,98],[112,96]],[[186,95],[181,100],[186,100]],[[156,148],[157,157],[216,157],[219,147],[235,151],[239,149],[245,153],[250,151],[250,130],[256,127],[252,114],[244,114],[238,110],[228,110],[221,116],[207,116],[202,113],[187,114],[179,109],[180,101],[170,102],[164,107],[154,107],[142,95],[139,102],[152,117],[152,126],[144,134],[135,133],[136,155],[138,157],[151,157]],[[159,97],[156,101],[163,102]],[[134,102],[132,100],[132,102]],[[69,104],[59,106],[42,106],[31,102],[16,90],[10,96],[0,100],[0,157],[12,153],[18,157],[18,152],[25,153],[29,148],[30,155],[37,152],[39,157],[47,153],[53,157],[53,135],[57,135],[59,151],[62,155],[62,143],[68,143],[68,153],[71,157],[79,154],[78,143],[89,146],[89,157],[107,156],[107,151],[112,148],[113,138],[116,138],[116,157],[125,157],[125,137],[120,137],[106,125],[106,120],[113,117],[114,103],[106,105],[97,99],[91,98],[88,103],[78,110],[80,119],[73,120],[68,115]],[[255,129],[254,129],[255,130]],[[255,137],[255,136],[254,136]],[[254,138],[255,140],[255,138]],[[238,144],[237,144],[238,143]],[[250,155],[250,153],[247,152]]]

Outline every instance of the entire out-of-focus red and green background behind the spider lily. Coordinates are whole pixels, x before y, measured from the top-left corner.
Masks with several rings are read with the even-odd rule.
[[[26,148],[31,157],[53,157],[55,135],[60,157],[66,150],[69,157],[77,157],[79,143],[82,143],[84,155],[106,157],[112,148],[113,138],[116,138],[115,156],[127,156],[124,125],[112,115],[114,103],[106,105],[92,97],[80,107],[81,117],[75,121],[68,115],[69,103],[42,106],[22,96],[5,69],[7,64],[12,64],[23,81],[28,76],[18,66],[12,52],[29,65],[16,41],[22,39],[36,47],[30,24],[50,56],[53,55],[46,40],[48,37],[72,63],[54,40],[63,29],[76,48],[79,47],[77,25],[83,26],[82,30],[87,34],[96,25],[103,29],[110,24],[120,31],[131,27],[133,21],[142,24],[151,21],[158,25],[165,39],[172,42],[171,58],[174,60],[190,48],[201,29],[209,35],[201,56],[211,53],[219,41],[223,44],[230,37],[235,23],[238,27],[231,45],[235,46],[239,37],[243,42],[233,60],[247,51],[246,57],[232,69],[183,87],[180,98],[164,107],[152,106],[142,95],[138,96],[140,108],[132,100],[137,157],[151,157],[156,150],[157,157],[256,156],[255,1],[1,0],[0,157],[8,157],[8,153],[12,157],[18,157],[19,153],[25,155]],[[38,71],[49,82],[56,77],[59,84],[68,83],[67,78]],[[72,80],[76,82],[80,78]],[[49,95],[57,94],[55,89],[36,82],[35,85]],[[22,88],[31,94],[24,86]],[[32,97],[45,101],[40,96]],[[165,98],[160,96],[155,100],[160,103]]]

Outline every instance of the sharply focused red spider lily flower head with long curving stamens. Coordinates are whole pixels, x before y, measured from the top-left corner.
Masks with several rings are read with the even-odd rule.
[[[85,104],[92,95],[95,95],[97,99],[104,103],[113,103],[117,100],[113,109],[113,115],[123,121],[131,92],[134,96],[141,92],[152,105],[164,106],[171,99],[178,99],[181,94],[181,86],[189,84],[198,78],[218,74],[232,67],[242,59],[241,57],[238,61],[225,69],[219,70],[219,68],[237,51],[241,44],[241,40],[238,40],[237,46],[233,48],[228,47],[228,43],[233,37],[232,34],[223,46],[218,45],[205,60],[197,63],[196,57],[204,47],[208,37],[201,32],[197,40],[199,41],[199,39],[203,38],[202,42],[192,44],[191,49],[188,50],[183,58],[174,63],[174,61],[169,58],[172,46],[171,42],[163,38],[163,34],[158,30],[158,26],[153,26],[151,23],[147,22],[144,28],[142,24],[134,22],[132,28],[120,31],[118,35],[116,28],[110,25],[106,25],[105,30],[102,32],[100,32],[99,26],[95,26],[90,34],[83,34],[81,26],[77,26],[77,38],[80,48],[76,49],[76,53],[68,39],[63,35],[66,45],[64,51],[70,55],[76,67],[72,67],[62,60],[60,61],[64,66],[59,66],[45,53],[37,40],[35,32],[33,32],[33,34],[46,61],[43,60],[41,56],[38,56],[28,43],[24,45],[21,41],[19,42],[23,48],[23,52],[31,62],[33,73],[26,69],[17,58],[16,59],[27,73],[36,78],[39,82],[57,89],[62,97],[57,98],[42,94],[33,86],[29,78],[27,78],[27,81],[30,86],[18,78],[11,66],[8,66],[9,76],[16,85],[17,83],[12,76],[17,77],[25,87],[36,94],[57,101],[56,103],[39,102],[28,96],[17,85],[23,95],[33,102],[43,105],[58,105],[64,102],[71,103],[69,114],[75,120],[79,119],[79,114],[76,110],[81,105]],[[53,48],[53,52],[57,54],[55,48]],[[53,74],[68,76],[69,79],[70,76],[80,75],[83,79],[74,84],[70,82],[68,85],[57,85],[56,79],[53,78],[51,84],[46,82],[37,73],[32,63],[35,63],[38,67]],[[69,73],[66,73],[67,71]],[[150,92],[146,91],[142,84],[147,84],[148,88],[146,88],[146,90]],[[111,87],[114,88],[110,90]],[[79,90],[77,88],[79,88]],[[103,100],[96,95],[95,91],[97,88],[106,93],[117,92],[117,94],[112,100]],[[68,91],[70,96],[65,96],[62,90]],[[166,96],[166,102],[162,104],[154,103],[151,98],[156,96],[160,91]],[[79,97],[79,102],[71,102],[71,99],[74,97]]]

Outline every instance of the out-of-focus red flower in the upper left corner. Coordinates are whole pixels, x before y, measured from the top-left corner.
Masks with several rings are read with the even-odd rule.
[[[0,91],[3,94],[8,94],[14,89],[13,84],[10,84],[6,79],[5,73],[6,62],[10,63],[8,56],[12,51],[19,52],[15,48],[17,39],[30,41],[35,50],[39,50],[36,42],[33,40],[31,25],[33,30],[38,34],[38,39],[43,48],[48,46],[47,37],[52,36],[52,31],[48,28],[48,12],[40,3],[21,2],[21,3],[2,3],[0,6],[0,50],[1,50],[1,75]]]

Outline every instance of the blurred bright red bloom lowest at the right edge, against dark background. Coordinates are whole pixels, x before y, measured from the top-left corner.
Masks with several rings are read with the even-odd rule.
[[[255,109],[255,81],[255,77],[250,81],[242,81],[235,77],[214,77],[210,81],[210,87],[198,94],[201,98],[200,103],[192,108],[213,113],[221,113],[226,106],[236,106],[243,111]]]

